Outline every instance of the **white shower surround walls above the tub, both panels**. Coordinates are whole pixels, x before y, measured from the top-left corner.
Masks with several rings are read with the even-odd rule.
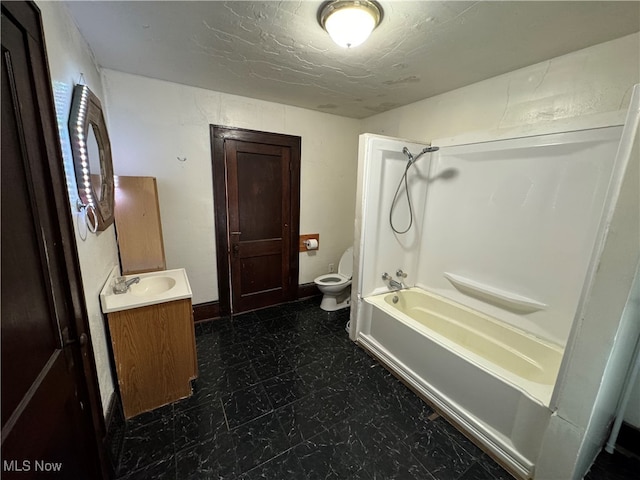
[[[564,346],[621,134],[615,126],[426,154],[409,169],[414,226],[405,235],[392,232],[389,207],[407,161],[403,146],[415,154],[424,145],[361,136],[373,156],[365,167],[361,295],[385,291],[382,273],[402,268],[409,285]],[[409,222],[403,192],[398,227]]]

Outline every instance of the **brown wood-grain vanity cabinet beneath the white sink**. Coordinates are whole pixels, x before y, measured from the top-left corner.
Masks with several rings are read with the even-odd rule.
[[[191,299],[107,318],[125,418],[191,395],[198,375]]]

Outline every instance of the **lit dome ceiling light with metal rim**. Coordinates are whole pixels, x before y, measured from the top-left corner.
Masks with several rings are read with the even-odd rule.
[[[329,36],[344,48],[363,43],[382,20],[382,7],[369,0],[334,0],[318,12],[318,21]]]

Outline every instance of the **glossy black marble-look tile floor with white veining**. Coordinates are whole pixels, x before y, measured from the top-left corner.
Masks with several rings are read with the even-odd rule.
[[[510,479],[349,341],[348,316],[318,298],[198,324],[193,396],[127,422],[117,478]],[[631,478],[605,460],[589,480]]]

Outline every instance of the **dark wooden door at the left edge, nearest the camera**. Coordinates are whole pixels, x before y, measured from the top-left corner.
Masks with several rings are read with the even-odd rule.
[[[33,5],[2,4],[2,478],[94,479],[102,473],[83,384],[87,339],[74,340],[41,40]]]

